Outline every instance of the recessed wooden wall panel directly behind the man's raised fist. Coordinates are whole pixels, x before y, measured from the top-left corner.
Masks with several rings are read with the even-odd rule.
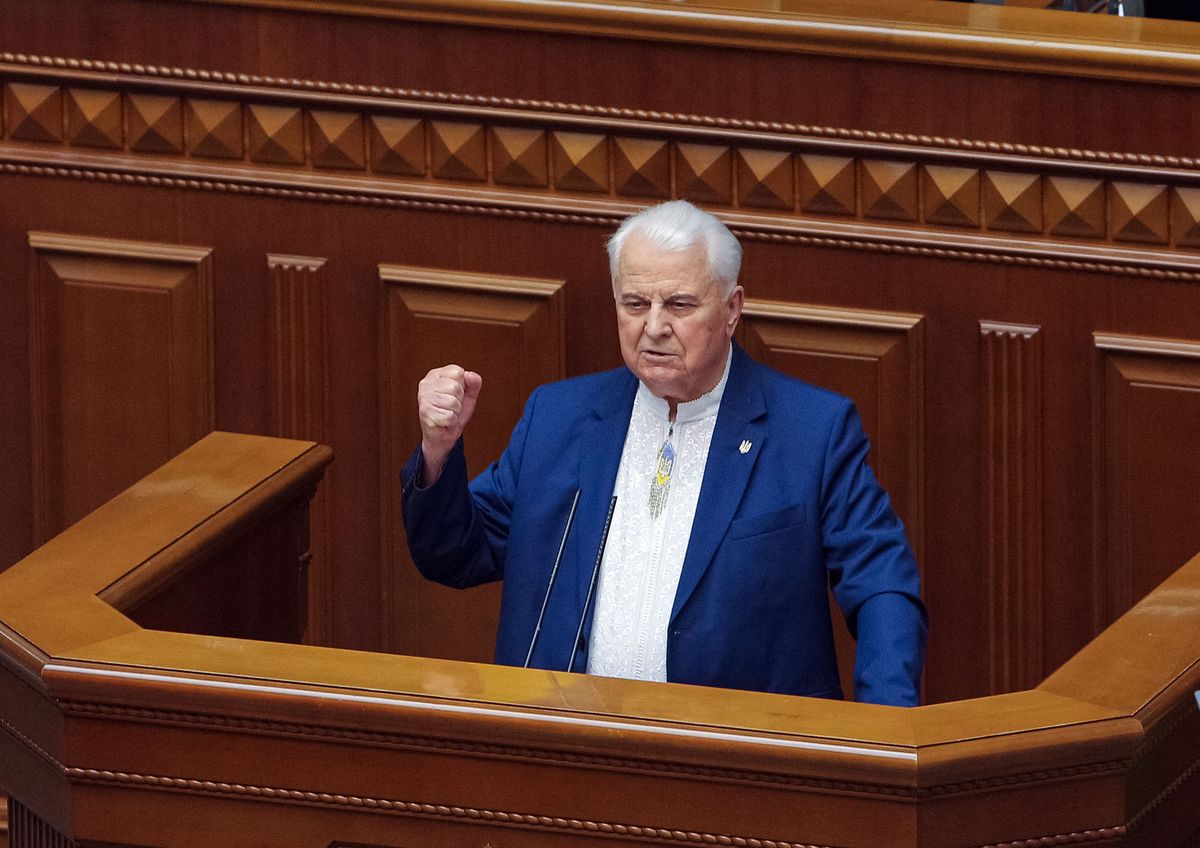
[[[432,584],[408,557],[400,471],[420,444],[416,384],[451,362],[484,378],[464,434],[472,475],[499,457],[529,393],[565,375],[560,281],[380,265],[383,599],[388,645],[416,656],[488,662],[498,587],[469,593]],[[431,629],[427,623],[439,623]]]

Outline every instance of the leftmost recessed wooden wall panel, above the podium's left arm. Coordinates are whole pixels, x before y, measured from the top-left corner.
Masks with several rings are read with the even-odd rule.
[[[34,536],[43,542],[214,427],[200,247],[30,233]]]

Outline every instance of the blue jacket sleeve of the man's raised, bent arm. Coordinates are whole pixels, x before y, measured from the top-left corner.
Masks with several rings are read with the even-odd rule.
[[[535,391],[526,403],[500,458],[470,483],[462,439],[446,457],[442,476],[427,488],[418,485],[420,446],[404,464],[401,487],[408,549],[428,579],[463,589],[504,577],[521,457],[536,396]]]

